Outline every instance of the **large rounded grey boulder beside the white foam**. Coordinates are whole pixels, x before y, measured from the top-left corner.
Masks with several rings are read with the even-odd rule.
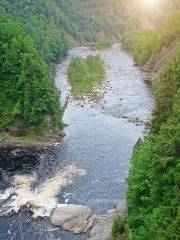
[[[94,220],[90,208],[74,204],[58,205],[50,217],[51,224],[74,233],[87,232]]]

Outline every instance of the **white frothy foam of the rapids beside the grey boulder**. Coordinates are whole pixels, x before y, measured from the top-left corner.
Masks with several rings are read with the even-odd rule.
[[[34,218],[50,216],[58,205],[56,195],[74,179],[85,174],[83,169],[69,165],[34,190],[32,190],[32,183],[36,181],[35,175],[16,175],[14,187],[0,193],[0,201],[4,201],[0,211],[4,214],[18,212],[22,206],[26,205],[31,209]]]

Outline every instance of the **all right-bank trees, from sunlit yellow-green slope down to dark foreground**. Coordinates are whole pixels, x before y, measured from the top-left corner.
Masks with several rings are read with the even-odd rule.
[[[152,80],[155,110],[151,131],[136,146],[128,177],[131,239],[179,239],[180,224],[180,12],[158,29],[128,33],[124,45],[137,64],[150,62],[172,42],[176,54]]]

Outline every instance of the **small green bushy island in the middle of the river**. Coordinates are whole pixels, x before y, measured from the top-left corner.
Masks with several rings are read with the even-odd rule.
[[[103,80],[104,63],[99,56],[86,59],[74,57],[68,68],[68,78],[75,95],[94,93],[94,86]]]

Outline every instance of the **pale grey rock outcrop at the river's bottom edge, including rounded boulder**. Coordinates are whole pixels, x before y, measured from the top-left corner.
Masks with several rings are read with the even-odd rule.
[[[75,234],[87,233],[89,240],[112,240],[114,220],[117,217],[124,220],[126,215],[126,201],[104,215],[94,214],[83,205],[59,204],[50,216],[50,223]]]

